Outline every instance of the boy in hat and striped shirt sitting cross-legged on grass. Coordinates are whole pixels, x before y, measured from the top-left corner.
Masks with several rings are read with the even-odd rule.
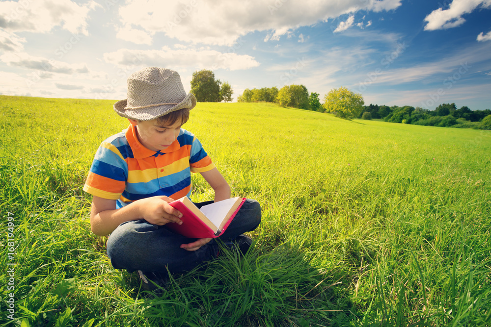
[[[218,255],[215,240],[189,239],[165,227],[182,224],[182,214],[168,202],[191,196],[191,172],[210,184],[215,201],[231,196],[201,143],[181,128],[195,105],[194,95],[186,95],[175,71],[148,67],[132,74],[127,99],[114,103],[116,113],[131,124],[102,142],[83,187],[93,195],[92,232],[110,234],[112,266],[138,271],[147,289],[152,284],[146,277],[162,281],[167,269],[189,271]],[[259,203],[247,199],[220,239],[245,253],[251,239],[242,233],[260,222]]]

